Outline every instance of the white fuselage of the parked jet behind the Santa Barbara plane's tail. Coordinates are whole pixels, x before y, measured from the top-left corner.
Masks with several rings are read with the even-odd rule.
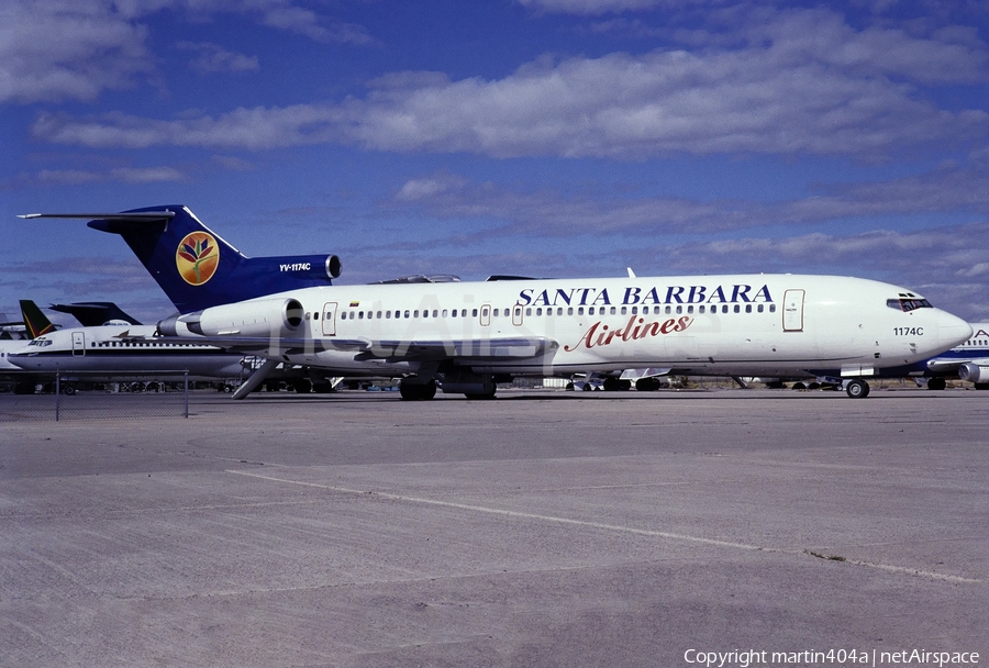
[[[101,325],[58,330],[20,342],[7,360],[32,371],[170,372],[231,378],[243,371],[241,355],[154,336],[154,325]]]

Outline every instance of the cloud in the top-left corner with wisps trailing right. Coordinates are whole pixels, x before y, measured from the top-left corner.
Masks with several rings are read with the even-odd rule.
[[[148,27],[160,12],[197,21],[246,14],[263,25],[319,42],[371,44],[367,31],[297,7],[292,0],[7,0],[0,3],[0,103],[92,101],[156,74]],[[216,46],[196,66],[207,71],[256,68],[248,56]]]

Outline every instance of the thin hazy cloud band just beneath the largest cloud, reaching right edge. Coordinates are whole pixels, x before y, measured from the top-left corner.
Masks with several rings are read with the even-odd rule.
[[[821,188],[822,193],[789,201],[684,198],[613,198],[538,190],[515,192],[493,183],[473,183],[440,174],[405,183],[398,205],[413,205],[445,220],[503,222],[502,233],[564,237],[575,234],[705,234],[766,226],[815,225],[836,220],[921,213],[989,215],[989,163],[975,155],[964,166],[871,183]]]

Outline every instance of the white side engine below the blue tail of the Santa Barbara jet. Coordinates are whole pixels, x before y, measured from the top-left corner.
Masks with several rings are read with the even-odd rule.
[[[297,299],[252,299],[235,304],[204,309],[187,315],[173,315],[158,323],[165,336],[181,336],[186,331],[203,336],[291,336],[305,321],[305,309]]]

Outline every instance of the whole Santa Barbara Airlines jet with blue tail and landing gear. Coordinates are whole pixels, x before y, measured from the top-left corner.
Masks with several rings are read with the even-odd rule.
[[[857,278],[629,276],[288,289],[292,267],[300,264],[300,282],[309,283],[312,267],[260,263],[249,281],[240,281],[237,268],[248,260],[185,207],[24,218],[93,218],[89,226],[123,234],[179,309],[158,323],[163,338],[267,358],[247,386],[280,361],[340,376],[401,375],[404,399],[432,398],[437,383],[444,392],[492,397],[496,382],[516,375],[657,367],[691,376],[834,377],[859,398],[877,371],[927,359],[971,334],[968,323],[909,289]],[[188,232],[191,223],[200,227]],[[234,259],[224,264],[227,254]],[[331,264],[338,269],[338,260]],[[338,274],[319,271],[323,283]]]

